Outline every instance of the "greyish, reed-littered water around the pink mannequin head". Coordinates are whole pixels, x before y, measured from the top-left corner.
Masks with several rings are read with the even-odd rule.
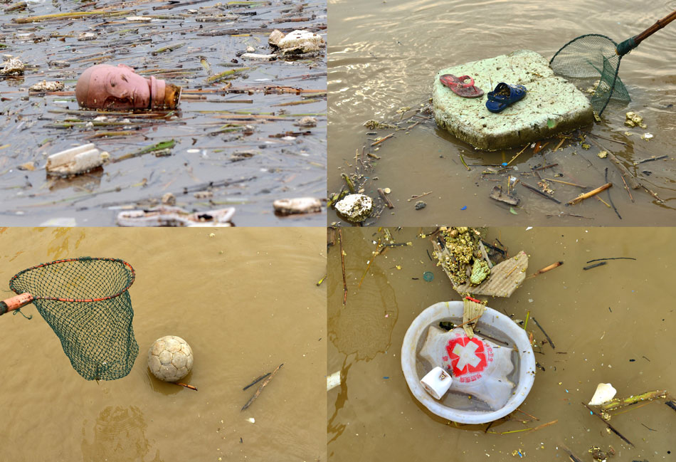
[[[268,35],[274,28],[307,29],[326,38],[325,1],[303,2],[302,9],[284,1],[242,1],[228,4],[227,10],[216,1],[172,9],[162,9],[169,4],[161,1],[100,1],[95,4],[98,9],[127,13],[12,22],[25,16],[89,11],[93,7],[88,5],[29,1],[28,11],[0,12],[0,51],[28,65],[23,78],[0,78],[3,224],[35,226],[61,218],[71,223],[75,219],[78,226],[110,226],[120,209],[157,204],[167,192],[190,211],[235,206],[233,222],[238,226],[326,222],[324,214],[280,219],[272,205],[275,199],[325,194],[325,49],[318,56],[270,63],[238,58],[248,46],[256,53],[270,53]],[[228,12],[238,19],[196,21],[197,16]],[[127,21],[130,16],[154,19]],[[78,41],[85,31],[97,38]],[[180,48],[152,54],[181,43]],[[57,68],[48,64],[52,61],[70,66]],[[181,85],[184,98],[179,109],[154,119],[144,114],[108,115],[107,122],[117,125],[90,126],[88,122],[105,113],[68,112],[78,110],[74,95],[27,93],[42,80],[61,80],[65,91],[73,91],[78,75],[97,63],[125,63],[145,77],[155,75]],[[212,75],[239,68],[249,69],[230,80],[207,82]],[[229,90],[217,91],[227,85]],[[282,86],[306,91],[276,93],[274,88]],[[198,97],[189,93],[199,89],[206,90],[204,99],[189,99]],[[249,115],[250,120],[236,119]],[[316,127],[297,126],[304,115],[315,117]],[[65,127],[68,123],[73,126]],[[131,133],[103,136],[104,132]],[[176,142],[169,156],[144,154],[75,179],[51,179],[44,170],[48,155],[87,142],[116,158],[167,140]],[[36,169],[18,169],[26,162],[33,162]],[[206,190],[213,196],[195,196]]]

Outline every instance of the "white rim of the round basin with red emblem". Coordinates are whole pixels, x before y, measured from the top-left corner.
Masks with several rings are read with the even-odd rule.
[[[517,409],[524,399],[526,399],[535,379],[533,349],[525,330],[509,319],[509,317],[491,308],[486,308],[479,322],[495,330],[499,330],[509,337],[517,346],[521,360],[519,377],[515,380],[517,386],[514,388],[512,397],[509,398],[507,404],[501,409],[497,409],[497,411],[453,409],[436,401],[425,391],[420,383],[421,377],[418,377],[416,369],[418,340],[429,325],[448,319],[449,317],[463,317],[463,302],[440,302],[426,308],[413,320],[406,331],[406,335],[403,337],[403,344],[401,345],[401,370],[404,377],[406,377],[406,383],[408,384],[408,388],[411,389],[413,396],[433,414],[460,424],[485,424],[500,419],[514,411],[514,409]]]

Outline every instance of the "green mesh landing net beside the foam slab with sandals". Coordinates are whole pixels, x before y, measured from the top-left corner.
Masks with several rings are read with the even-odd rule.
[[[591,97],[591,106],[594,112],[601,115],[611,99],[620,103],[629,103],[631,100],[618,76],[620,60],[634,48],[627,42],[618,45],[611,38],[596,33],[580,36],[561,47],[549,61],[549,66],[556,75],[564,78],[598,80]]]

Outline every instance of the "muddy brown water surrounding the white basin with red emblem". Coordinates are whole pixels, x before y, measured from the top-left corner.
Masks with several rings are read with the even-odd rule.
[[[673,229],[489,228],[514,255],[529,255],[528,273],[555,261],[564,264],[528,278],[511,298],[488,298],[488,306],[514,320],[527,313],[539,345],[531,392],[509,421],[455,426],[418,404],[401,372],[401,344],[413,319],[433,303],[460,300],[443,271],[428,257],[428,238],[418,228],[391,229],[398,243],[375,258],[361,287],[376,229],[344,229],[347,305],[338,246],[329,249],[327,372],[342,371],[342,384],[327,394],[329,461],[569,460],[564,446],[591,461],[591,446],[612,446],[617,461],[668,461],[676,451],[674,411],[653,401],[611,424],[635,446],[624,443],[581,404],[600,382],[613,384],[618,397],[673,387],[676,316],[671,283],[676,253]],[[606,257],[605,266],[583,271],[587,261]],[[401,267],[401,269],[398,269]],[[433,280],[423,280],[431,271]],[[628,408],[630,409],[630,408]],[[556,421],[537,431],[519,431]],[[485,433],[485,431],[488,433]],[[495,433],[492,433],[495,432]],[[519,456],[515,451],[524,454]],[[613,460],[610,458],[608,460]]]

